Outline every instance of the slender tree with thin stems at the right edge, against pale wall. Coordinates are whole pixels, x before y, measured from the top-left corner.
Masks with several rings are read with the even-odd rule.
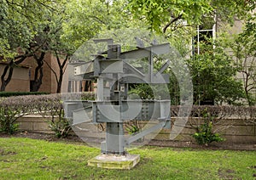
[[[244,30],[230,43],[238,71],[241,73],[247,104],[256,104],[256,23],[255,14],[248,16]]]

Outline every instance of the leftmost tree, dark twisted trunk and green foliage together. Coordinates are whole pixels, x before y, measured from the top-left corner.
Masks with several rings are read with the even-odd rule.
[[[50,0],[3,0],[0,11],[1,59],[7,62],[1,76],[1,91],[11,80],[15,65],[20,65],[28,57],[37,57],[44,41],[38,41],[40,31],[45,31],[45,22],[55,2]],[[44,54],[44,53],[43,53]],[[40,55],[40,57],[42,57]]]

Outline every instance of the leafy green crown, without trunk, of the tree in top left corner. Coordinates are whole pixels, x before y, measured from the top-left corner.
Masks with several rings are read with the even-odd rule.
[[[0,8],[3,59],[14,58],[17,48],[29,48],[38,33],[44,31],[53,12],[57,12],[56,3],[50,0],[3,0]]]

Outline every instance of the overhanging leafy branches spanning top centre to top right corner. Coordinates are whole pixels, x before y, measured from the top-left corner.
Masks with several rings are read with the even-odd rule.
[[[214,17],[230,22],[235,15],[246,16],[252,6],[255,6],[253,1],[244,0],[128,0],[127,9],[151,30],[166,33],[167,29],[176,31],[179,27],[201,25]]]

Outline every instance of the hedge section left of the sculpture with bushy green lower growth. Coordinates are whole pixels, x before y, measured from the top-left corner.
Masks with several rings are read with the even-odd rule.
[[[71,93],[68,96],[82,100],[95,99],[94,93]],[[0,98],[0,132],[14,133],[18,130],[15,122],[20,116],[37,113],[48,119],[50,117],[49,127],[58,138],[67,137],[71,127],[63,117],[62,99],[61,93]]]

